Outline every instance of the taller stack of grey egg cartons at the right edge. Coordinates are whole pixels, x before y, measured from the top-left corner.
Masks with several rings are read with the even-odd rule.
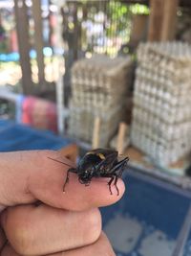
[[[191,151],[190,92],[188,44],[140,44],[131,141],[160,166]]]

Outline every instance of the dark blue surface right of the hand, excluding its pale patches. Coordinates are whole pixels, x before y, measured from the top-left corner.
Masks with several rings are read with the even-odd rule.
[[[114,246],[117,244],[114,236],[111,234],[111,231],[108,233],[108,230],[111,230],[111,228],[108,229],[108,225],[111,225],[112,221],[116,221],[114,230],[116,236],[120,236],[121,233],[121,224],[119,227],[117,226],[117,221],[121,220],[124,223],[123,226],[125,226],[125,220],[136,221],[141,228],[141,232],[137,238],[134,237],[134,240],[137,242],[133,250],[124,252],[124,250],[121,251],[116,246],[117,255],[144,255],[140,253],[143,241],[151,237],[155,232],[162,234],[165,244],[169,244],[169,246],[176,244],[180,228],[191,202],[191,197],[183,195],[180,193],[181,191],[176,191],[176,189],[169,190],[165,183],[160,186],[156,182],[152,182],[146,178],[141,179],[141,177],[132,174],[126,175],[124,181],[127,188],[124,197],[117,204],[101,209],[103,227]],[[123,244],[127,243],[129,239],[128,232],[131,232],[131,230],[126,230],[126,232],[127,238],[125,240],[125,234],[123,234]],[[159,243],[161,242],[159,241]],[[184,254],[186,256],[191,255],[188,253],[189,244],[191,245],[188,240]],[[148,255],[171,256],[172,253],[167,253],[166,251],[162,253],[160,251],[159,254],[156,252],[155,254],[148,253]]]

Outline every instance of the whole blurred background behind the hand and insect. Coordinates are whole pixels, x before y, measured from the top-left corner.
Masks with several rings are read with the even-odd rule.
[[[191,255],[191,2],[0,1],[0,151],[130,158],[117,256]]]

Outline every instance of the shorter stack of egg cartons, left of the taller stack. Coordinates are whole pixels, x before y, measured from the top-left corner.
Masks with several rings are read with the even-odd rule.
[[[94,122],[100,119],[99,146],[106,147],[122,118],[132,69],[130,58],[95,56],[74,63],[69,134],[92,143]]]

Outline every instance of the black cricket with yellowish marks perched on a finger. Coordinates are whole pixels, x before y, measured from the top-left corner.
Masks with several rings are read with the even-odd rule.
[[[53,159],[53,161],[65,164],[62,161]],[[127,167],[127,162],[129,158],[125,157],[122,160],[118,160],[118,152],[110,149],[96,149],[93,151],[88,151],[79,161],[76,168],[69,166],[67,171],[67,177],[64,183],[63,191],[65,191],[65,186],[69,182],[70,173],[78,175],[78,180],[81,184],[89,186],[93,177],[110,177],[108,182],[110,194],[112,193],[112,183],[117,189],[117,196],[119,191],[117,188],[117,179],[120,177]]]

